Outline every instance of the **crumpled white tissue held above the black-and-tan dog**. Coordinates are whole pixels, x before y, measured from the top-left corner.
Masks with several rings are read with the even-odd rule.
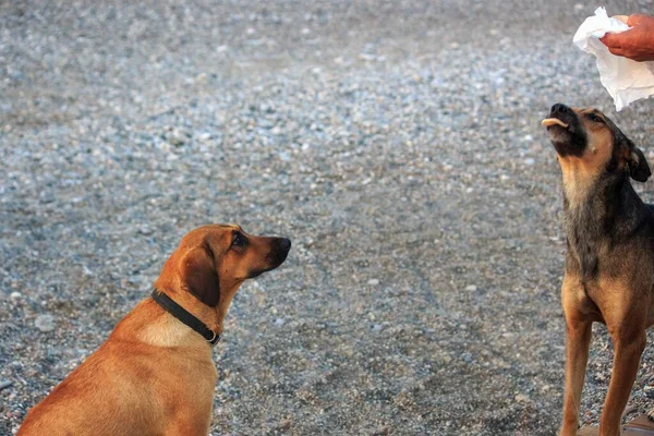
[[[618,34],[629,28],[620,20],[609,19],[604,8],[597,8],[595,16],[585,19],[572,38],[577,47],[597,58],[600,80],[613,97],[617,111],[654,94],[654,62],[637,62],[611,55],[598,39],[607,33]]]

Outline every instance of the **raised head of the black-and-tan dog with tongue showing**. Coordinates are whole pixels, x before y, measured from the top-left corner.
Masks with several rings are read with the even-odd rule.
[[[595,175],[629,174],[644,182],[652,174],[643,153],[596,109],[556,104],[543,120],[564,171]]]

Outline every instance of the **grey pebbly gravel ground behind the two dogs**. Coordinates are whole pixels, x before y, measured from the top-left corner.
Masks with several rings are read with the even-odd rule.
[[[293,249],[234,300],[214,434],[556,432],[565,237],[538,122],[595,106],[654,159],[654,102],[616,114],[571,44],[595,4],[124,3],[0,2],[0,434],[225,221]]]

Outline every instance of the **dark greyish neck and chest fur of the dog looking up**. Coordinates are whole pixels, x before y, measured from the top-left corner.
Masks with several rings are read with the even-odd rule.
[[[564,227],[573,269],[586,281],[598,272],[600,250],[625,241],[644,219],[645,208],[627,174],[602,175],[584,192],[564,190]]]

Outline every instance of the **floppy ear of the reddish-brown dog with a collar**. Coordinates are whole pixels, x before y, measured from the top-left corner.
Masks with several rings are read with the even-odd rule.
[[[181,268],[182,279],[189,291],[208,306],[215,307],[220,300],[220,279],[216,271],[214,252],[208,244],[186,255]]]

